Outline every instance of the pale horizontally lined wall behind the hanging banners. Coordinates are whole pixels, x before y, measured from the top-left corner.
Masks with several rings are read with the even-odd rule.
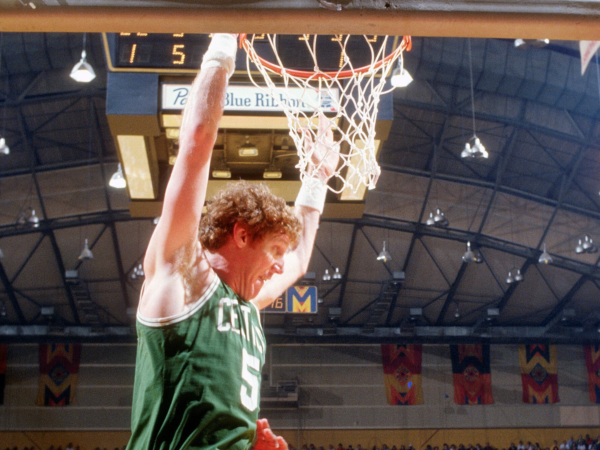
[[[86,344],[76,397],[68,407],[37,407],[38,347],[9,345],[0,430],[128,430],[136,347]],[[270,345],[263,373],[297,379],[298,409],[263,410],[275,429],[598,427],[581,347],[558,347],[560,403],[521,403],[516,345],[492,345],[493,405],[453,402],[447,345],[423,347],[424,405],[388,406],[379,345]]]

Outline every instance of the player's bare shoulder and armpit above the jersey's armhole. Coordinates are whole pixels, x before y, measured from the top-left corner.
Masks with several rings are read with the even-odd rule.
[[[187,255],[185,260],[182,264],[157,267],[152,276],[146,277],[140,293],[138,317],[149,323],[163,324],[187,315],[214,293],[218,277],[206,260],[200,243],[196,252]]]

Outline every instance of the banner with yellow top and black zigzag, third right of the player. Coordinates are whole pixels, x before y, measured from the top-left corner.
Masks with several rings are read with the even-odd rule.
[[[519,345],[523,403],[557,403],[556,345]]]

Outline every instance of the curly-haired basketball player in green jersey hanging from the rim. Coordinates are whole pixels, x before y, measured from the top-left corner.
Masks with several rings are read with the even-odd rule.
[[[236,49],[235,35],[214,35],[185,105],[179,155],[144,259],[128,450],[246,450],[253,442],[256,450],[287,450],[266,419],[257,420],[266,348],[259,309],[307,270],[325,202],[320,180],[338,154],[328,151],[334,142],[323,118],[326,145],[314,145],[313,158],[322,164],[293,211],[265,186],[241,181],[200,217]]]

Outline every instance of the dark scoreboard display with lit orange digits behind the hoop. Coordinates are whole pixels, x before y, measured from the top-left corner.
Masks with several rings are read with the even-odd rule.
[[[211,41],[209,34],[184,33],[143,33],[121,32],[110,34],[110,43],[114,43],[114,51],[110,51],[112,67],[117,69],[140,68],[148,70],[181,69],[197,70],[202,56]],[[297,70],[314,70],[314,61],[307,43],[313,45],[314,35],[279,34],[275,38],[277,53],[282,64]],[[368,35],[317,35],[317,64],[321,70],[337,70],[344,65],[344,54],[341,43],[348,39],[346,55],[355,68],[371,63],[371,49],[377,53],[382,45],[381,36]],[[388,40],[391,51],[392,41]],[[111,46],[109,44],[109,47]],[[254,49],[268,61],[276,62],[271,44],[265,35],[254,37]],[[236,70],[245,71],[246,58],[244,52],[238,52]],[[110,64],[109,64],[110,66]],[[243,66],[243,67],[242,67]]]

